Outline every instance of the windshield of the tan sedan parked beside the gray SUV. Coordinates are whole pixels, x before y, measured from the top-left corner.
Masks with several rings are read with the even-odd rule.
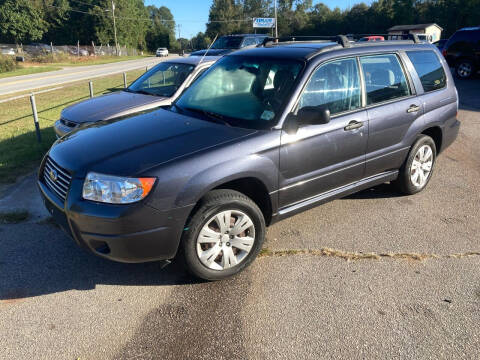
[[[170,97],[195,69],[195,65],[162,62],[135,80],[129,92]]]

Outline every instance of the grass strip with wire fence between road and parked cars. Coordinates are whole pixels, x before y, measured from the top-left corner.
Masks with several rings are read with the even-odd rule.
[[[143,70],[127,73],[129,82]],[[123,88],[123,75],[115,74],[93,80],[95,95]],[[35,96],[42,142],[38,143],[28,97],[0,103],[0,183],[11,183],[18,176],[35,169],[55,141],[53,124],[65,107],[88,99],[88,81],[69,84],[59,90]]]

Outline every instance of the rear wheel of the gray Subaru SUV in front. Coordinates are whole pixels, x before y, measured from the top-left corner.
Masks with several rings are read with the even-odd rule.
[[[427,149],[430,149],[431,153]],[[422,151],[424,152],[422,153]],[[403,194],[419,193],[427,187],[433,174],[436,159],[435,141],[430,136],[419,135],[400,168],[397,180],[393,184]]]

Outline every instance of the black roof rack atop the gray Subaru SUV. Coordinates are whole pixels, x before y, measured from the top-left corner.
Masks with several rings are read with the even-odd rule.
[[[283,37],[267,37],[263,40],[262,44],[258,46],[273,46],[278,43],[292,43],[292,42],[336,42],[344,48],[352,46],[349,38],[360,39],[366,36],[383,36],[386,40],[392,40],[392,38],[402,40],[411,40],[415,44],[421,43],[416,34],[348,34],[336,35],[336,36],[283,36]]]

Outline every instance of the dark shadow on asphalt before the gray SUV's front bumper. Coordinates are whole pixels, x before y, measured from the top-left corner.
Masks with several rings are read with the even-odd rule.
[[[50,223],[0,226],[0,306],[3,301],[92,290],[97,285],[194,284],[179,261],[117,263],[78,247]]]

